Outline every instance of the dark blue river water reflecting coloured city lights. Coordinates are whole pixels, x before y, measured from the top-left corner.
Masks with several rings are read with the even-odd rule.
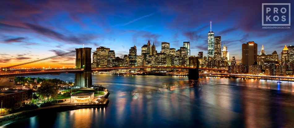
[[[74,81],[73,74],[47,75]],[[40,77],[44,77],[40,75]],[[180,76],[93,75],[110,90],[107,108],[40,115],[16,127],[294,127],[294,82]]]

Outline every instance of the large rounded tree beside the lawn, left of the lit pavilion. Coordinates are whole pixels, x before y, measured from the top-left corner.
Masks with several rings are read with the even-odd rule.
[[[38,90],[39,95],[44,98],[47,98],[49,102],[49,97],[56,97],[58,94],[58,85],[50,80],[45,80],[41,83],[41,86]]]

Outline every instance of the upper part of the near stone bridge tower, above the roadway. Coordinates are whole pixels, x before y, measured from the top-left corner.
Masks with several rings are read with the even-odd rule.
[[[89,47],[76,48],[76,69],[92,70],[91,49]]]

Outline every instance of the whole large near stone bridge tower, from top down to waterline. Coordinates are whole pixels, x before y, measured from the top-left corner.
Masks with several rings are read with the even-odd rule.
[[[84,69],[75,73],[76,86],[92,87],[91,49],[76,48],[76,69]]]

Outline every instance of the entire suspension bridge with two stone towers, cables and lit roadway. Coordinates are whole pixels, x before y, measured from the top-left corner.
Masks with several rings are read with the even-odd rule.
[[[102,71],[102,70],[116,70],[116,69],[136,69],[136,68],[176,68],[176,69],[188,69],[189,79],[198,79],[199,78],[199,69],[213,70],[213,71],[227,71],[226,69],[214,69],[214,68],[199,68],[198,57],[189,58],[189,67],[185,66],[141,66],[141,67],[105,67],[105,68],[91,68],[91,53],[92,48],[77,48],[75,51],[69,51],[63,54],[47,57],[44,59],[34,60],[31,62],[11,65],[4,67],[3,69],[6,72],[0,72],[0,77],[7,76],[23,76],[23,75],[37,75],[37,74],[58,74],[58,73],[75,73],[75,72],[84,72],[87,71]],[[75,62],[73,62],[75,61]],[[75,68],[72,69],[50,69],[48,67],[58,67],[57,65],[66,65],[75,64]],[[24,65],[27,67],[32,67],[35,69],[32,70],[18,70],[18,71],[9,71],[9,68],[22,68]],[[38,67],[36,69],[36,67]],[[42,68],[43,67],[43,68]],[[45,68],[46,67],[46,68]],[[2,69],[2,70],[3,70]],[[87,73],[87,74],[88,74]]]

